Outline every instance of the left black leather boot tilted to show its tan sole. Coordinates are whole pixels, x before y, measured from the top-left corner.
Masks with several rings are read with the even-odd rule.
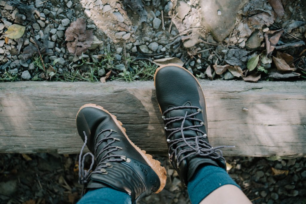
[[[84,141],[79,158],[79,182],[86,189],[111,187],[131,195],[132,202],[160,192],[166,184],[166,169],[159,161],[140,150],[125,134],[116,116],[95,104],[82,106],[76,126]],[[82,152],[86,146],[91,153]],[[92,164],[84,170],[84,158],[90,154]],[[91,171],[94,155],[97,167]]]

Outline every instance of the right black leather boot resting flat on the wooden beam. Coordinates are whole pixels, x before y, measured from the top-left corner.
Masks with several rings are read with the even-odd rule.
[[[207,138],[206,105],[196,78],[185,68],[163,65],[154,75],[154,85],[165,124],[169,159],[181,181],[188,180],[201,164],[226,169],[219,148],[211,147]]]

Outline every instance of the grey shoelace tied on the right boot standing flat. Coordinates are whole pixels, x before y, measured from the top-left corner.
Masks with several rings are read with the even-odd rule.
[[[197,112],[188,115],[188,112],[186,111],[185,116],[170,117],[170,118],[165,117],[165,115],[168,112],[170,112],[171,110],[176,110],[176,109],[196,109]],[[205,138],[207,138],[207,135],[203,131],[198,129],[199,127],[204,125],[204,123],[200,119],[193,117],[196,114],[201,113],[201,112],[202,110],[197,106],[177,106],[177,107],[167,109],[162,114],[163,120],[167,121],[167,123],[165,124],[165,130],[171,132],[169,136],[167,137],[167,143],[170,144],[169,151],[168,151],[169,159],[170,161],[172,161],[172,158],[174,156],[174,158],[177,160],[177,167],[179,167],[186,158],[194,157],[194,156],[207,157],[213,160],[221,158],[225,163],[225,159],[222,156],[222,151],[220,150],[220,148],[235,147],[235,146],[225,146],[225,145],[218,146],[218,147],[211,147],[211,145],[204,140]],[[181,120],[182,120],[181,127],[171,128],[171,129],[167,127],[167,125],[173,122],[176,122],[176,121],[181,121]],[[186,120],[198,121],[200,122],[200,124],[184,127],[184,123]],[[184,131],[186,130],[192,130],[192,131],[199,132],[200,134],[202,134],[202,136],[197,135],[195,137],[185,138]],[[177,132],[181,132],[182,138],[170,140],[171,136]],[[184,142],[184,143],[177,145],[178,143],[181,143],[181,142]],[[174,148],[175,145],[177,146]],[[184,147],[189,147],[189,148],[183,149],[177,154],[177,150],[180,148],[184,148]],[[184,154],[184,156],[181,159],[179,159],[182,154]]]

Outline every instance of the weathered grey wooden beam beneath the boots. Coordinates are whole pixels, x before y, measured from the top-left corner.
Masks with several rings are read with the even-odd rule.
[[[200,83],[211,144],[236,146],[224,155],[306,156],[304,82]],[[153,82],[0,83],[0,152],[79,152],[75,116],[85,103],[116,115],[142,149],[166,154]]]

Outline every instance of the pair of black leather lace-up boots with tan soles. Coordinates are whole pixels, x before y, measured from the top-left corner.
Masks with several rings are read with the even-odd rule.
[[[205,99],[196,78],[183,67],[169,64],[156,70],[154,85],[165,123],[169,159],[182,184],[187,186],[200,165],[226,169],[219,149],[223,146],[211,147],[208,142]],[[132,143],[116,116],[101,106],[86,104],[77,113],[76,125],[84,141],[79,182],[87,190],[110,187],[128,193],[136,202],[163,189],[166,169]],[[86,153],[82,159],[85,145],[92,154]],[[84,158],[88,154],[92,164],[86,171]],[[94,157],[97,166],[93,170]]]

